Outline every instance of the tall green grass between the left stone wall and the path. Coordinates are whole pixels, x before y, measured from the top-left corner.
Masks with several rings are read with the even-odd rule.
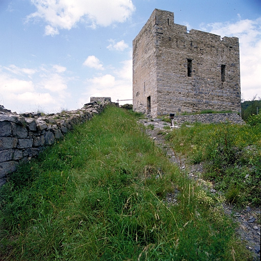
[[[222,198],[116,107],[20,166],[0,195],[4,260],[251,260]]]

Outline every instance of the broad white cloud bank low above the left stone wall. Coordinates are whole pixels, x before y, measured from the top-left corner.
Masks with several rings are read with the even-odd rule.
[[[35,111],[43,108],[48,112],[58,112],[64,106],[67,82],[63,76],[66,67],[44,66],[37,69],[20,68],[16,65],[0,66],[0,104],[12,111]],[[32,75],[32,79],[28,79]]]

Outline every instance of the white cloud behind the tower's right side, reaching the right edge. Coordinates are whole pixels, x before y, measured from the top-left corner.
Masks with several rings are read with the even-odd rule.
[[[240,18],[240,16],[239,16]],[[261,94],[261,17],[256,20],[202,24],[201,29],[240,42],[241,93],[245,100]]]

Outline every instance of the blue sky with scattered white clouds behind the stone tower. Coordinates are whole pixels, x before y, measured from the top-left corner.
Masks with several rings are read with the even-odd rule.
[[[260,0],[0,0],[0,105],[51,113],[132,99],[132,41],[155,8],[239,37],[242,98],[261,96]]]

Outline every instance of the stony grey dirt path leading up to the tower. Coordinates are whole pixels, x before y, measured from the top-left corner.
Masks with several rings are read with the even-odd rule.
[[[140,120],[140,123],[146,126],[146,133],[154,140],[154,143],[166,151],[171,162],[177,164],[182,171],[188,173],[190,178],[197,180],[203,186],[206,183],[209,185],[209,182],[201,178],[201,173],[204,171],[203,165],[188,164],[186,159],[177,155],[166,142],[164,136],[171,131],[170,123],[162,121],[161,119],[154,119],[153,121]],[[178,125],[172,127],[176,128]],[[215,187],[204,187],[210,189],[212,193],[219,193],[215,190]],[[166,200],[170,203],[176,202],[176,193],[177,191],[169,193]],[[237,233],[241,240],[245,241],[246,247],[253,252],[253,260],[260,260],[260,207],[252,209],[248,206],[244,210],[236,212],[232,205],[224,204],[224,212],[228,215],[232,215],[233,220],[238,222],[239,227]]]

